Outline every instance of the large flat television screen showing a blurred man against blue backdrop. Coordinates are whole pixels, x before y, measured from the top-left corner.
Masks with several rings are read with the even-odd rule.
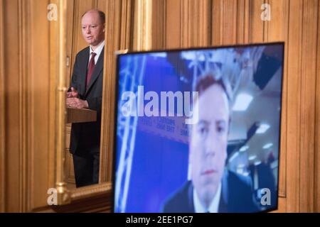
[[[284,43],[117,56],[114,212],[277,209]]]

